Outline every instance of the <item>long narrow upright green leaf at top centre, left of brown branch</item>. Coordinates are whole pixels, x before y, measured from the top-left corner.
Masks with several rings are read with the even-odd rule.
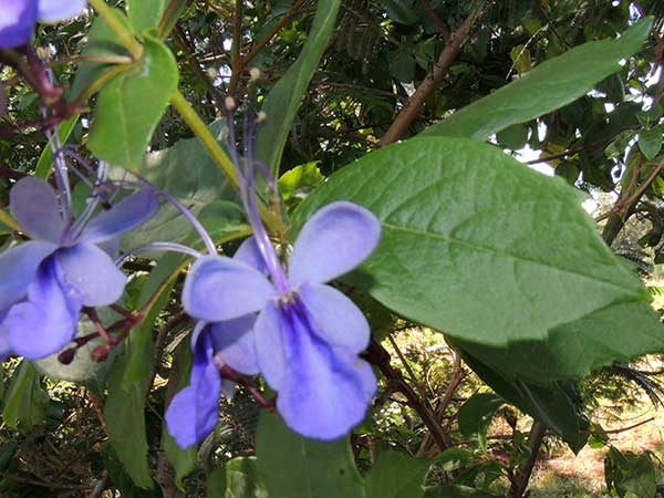
[[[319,61],[334,30],[341,0],[318,2],[313,25],[298,60],[268,93],[262,111],[268,120],[261,125],[256,142],[256,157],[279,176],[281,155],[300,102],[315,73]]]

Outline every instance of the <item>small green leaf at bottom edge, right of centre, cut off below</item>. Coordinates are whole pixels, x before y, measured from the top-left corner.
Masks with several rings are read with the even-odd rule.
[[[422,498],[430,461],[386,450],[366,475],[366,498]]]

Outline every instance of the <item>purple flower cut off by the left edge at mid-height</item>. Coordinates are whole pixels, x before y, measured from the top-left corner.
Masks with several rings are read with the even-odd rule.
[[[0,255],[0,356],[53,354],[72,340],[82,307],[122,295],[126,279],[110,252],[159,203],[151,189],[139,190],[89,219],[97,201],[74,222],[42,179],[25,177],[12,188],[12,215],[32,240]]]

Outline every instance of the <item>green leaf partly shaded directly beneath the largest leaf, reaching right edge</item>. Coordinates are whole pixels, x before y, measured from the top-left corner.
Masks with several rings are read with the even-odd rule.
[[[593,370],[664,351],[664,326],[640,301],[619,302],[553,329],[544,341],[490,347],[464,342],[487,365],[532,383],[581,378]],[[537,361],[523,361],[537,359]]]

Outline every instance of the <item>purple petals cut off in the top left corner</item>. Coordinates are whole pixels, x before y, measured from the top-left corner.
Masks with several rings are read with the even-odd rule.
[[[0,0],[0,49],[25,44],[34,24],[73,18],[85,9],[85,0]]]

